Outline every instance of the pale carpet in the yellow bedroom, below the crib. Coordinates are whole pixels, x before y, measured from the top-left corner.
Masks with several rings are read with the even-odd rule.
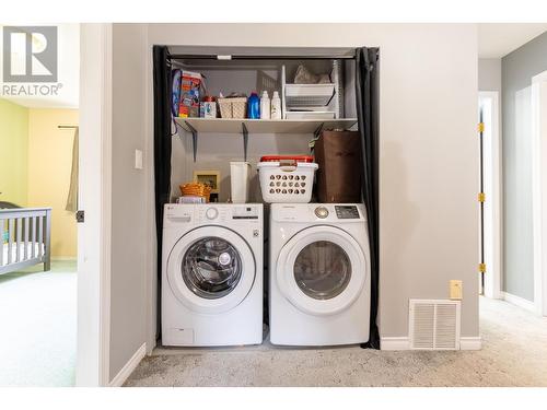
[[[0,387],[74,385],[77,262],[42,270],[0,274]]]

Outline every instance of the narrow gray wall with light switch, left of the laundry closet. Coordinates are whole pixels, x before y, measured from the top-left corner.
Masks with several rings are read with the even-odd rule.
[[[113,25],[110,380],[146,341],[146,27]]]

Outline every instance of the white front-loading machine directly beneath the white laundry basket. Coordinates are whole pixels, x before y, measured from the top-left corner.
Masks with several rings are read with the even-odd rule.
[[[366,214],[353,203],[274,203],[270,341],[335,345],[369,340]]]

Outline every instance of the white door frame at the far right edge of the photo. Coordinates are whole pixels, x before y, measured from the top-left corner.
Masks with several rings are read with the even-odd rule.
[[[543,93],[542,85],[546,86]],[[547,71],[532,78],[534,309],[547,316],[547,120],[542,121],[542,110],[547,113]]]

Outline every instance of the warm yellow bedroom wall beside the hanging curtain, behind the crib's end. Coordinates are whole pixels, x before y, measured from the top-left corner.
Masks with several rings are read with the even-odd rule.
[[[28,115],[28,207],[51,207],[51,256],[77,256],[74,214],[65,211],[72,167],[77,109],[31,108]]]

